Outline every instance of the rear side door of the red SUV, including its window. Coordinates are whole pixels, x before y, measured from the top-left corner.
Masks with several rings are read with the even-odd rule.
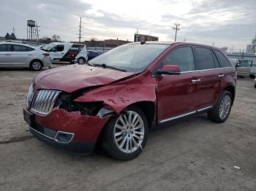
[[[196,69],[199,71],[198,82],[195,82],[197,97],[196,109],[206,109],[214,106],[220,92],[222,69],[220,69],[214,52],[208,47],[194,47]]]

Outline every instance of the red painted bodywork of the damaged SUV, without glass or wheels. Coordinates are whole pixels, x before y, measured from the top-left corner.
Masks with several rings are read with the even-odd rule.
[[[131,104],[148,101],[155,105],[156,117],[152,120],[158,122],[207,106],[214,106],[222,90],[227,86],[235,90],[235,69],[232,67],[152,77],[152,71],[174,48],[195,45],[200,44],[177,43],[171,45],[151,66],[148,66],[148,69],[138,75],[82,65],[44,71],[35,77],[34,89],[63,90],[71,93],[83,87],[100,85],[74,101],[102,101],[108,109],[112,109],[116,114]],[[216,49],[216,47],[213,48]],[[178,66],[164,66],[162,70],[178,71],[179,68]],[[225,74],[225,77],[219,78],[220,73]],[[192,79],[201,79],[202,82],[194,84]],[[53,130],[75,133],[74,141],[97,140],[109,119],[110,116],[101,119],[81,115],[79,112],[66,112],[62,109],[54,109],[47,116],[36,114],[35,117],[39,125]]]

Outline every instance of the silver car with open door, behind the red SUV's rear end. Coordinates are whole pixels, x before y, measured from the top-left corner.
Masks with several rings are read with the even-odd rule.
[[[233,66],[236,67],[236,72],[239,77],[251,77],[255,78],[252,74],[252,61],[246,61],[245,59],[230,58]]]

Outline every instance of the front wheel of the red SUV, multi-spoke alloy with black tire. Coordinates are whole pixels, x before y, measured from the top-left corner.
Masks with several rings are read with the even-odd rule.
[[[122,121],[127,122],[126,125]],[[110,157],[132,160],[143,151],[147,139],[148,122],[145,114],[138,107],[129,106],[126,112],[113,117],[105,126],[102,147]]]

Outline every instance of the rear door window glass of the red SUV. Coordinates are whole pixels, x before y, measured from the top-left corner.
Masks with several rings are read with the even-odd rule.
[[[205,47],[195,47],[197,53],[198,69],[214,69],[214,57],[211,54],[211,50]]]

